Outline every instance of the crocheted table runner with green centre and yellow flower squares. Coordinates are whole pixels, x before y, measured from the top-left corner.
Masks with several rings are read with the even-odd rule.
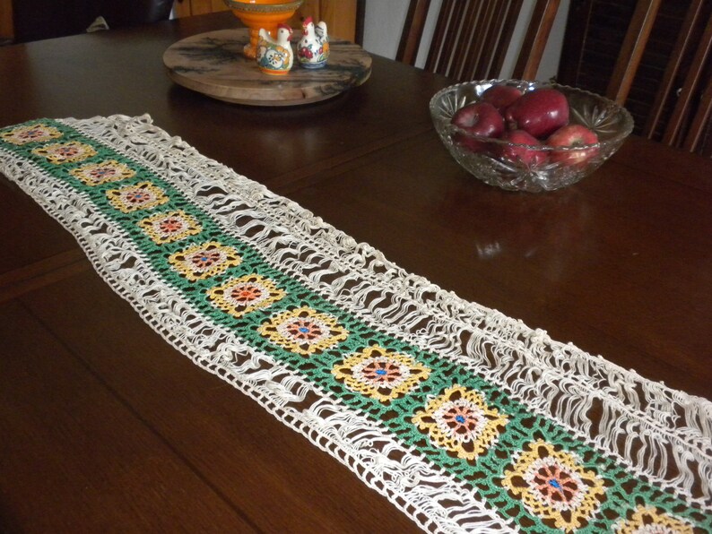
[[[165,340],[424,530],[712,531],[712,406],[390,263],[149,116],[0,130],[0,171]]]

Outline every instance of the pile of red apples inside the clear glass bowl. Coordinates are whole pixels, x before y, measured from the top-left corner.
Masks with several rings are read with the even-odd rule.
[[[460,108],[452,124],[468,134],[517,143],[482,142],[456,134],[454,141],[473,152],[488,153],[526,167],[547,162],[581,165],[595,156],[595,147],[580,151],[542,151],[531,147],[577,147],[598,142],[584,125],[569,124],[569,102],[560,91],[543,87],[522,92],[511,85],[492,85],[473,104]]]

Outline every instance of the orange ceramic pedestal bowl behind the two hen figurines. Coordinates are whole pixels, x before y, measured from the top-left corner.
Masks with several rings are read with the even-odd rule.
[[[232,13],[249,28],[249,43],[245,45],[245,56],[255,59],[259,30],[264,28],[271,36],[276,36],[277,25],[286,23],[297,11],[302,0],[223,0]]]

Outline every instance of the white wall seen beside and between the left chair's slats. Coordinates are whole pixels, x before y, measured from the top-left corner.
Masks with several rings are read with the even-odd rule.
[[[363,47],[371,54],[395,58],[398,51],[398,43],[401,39],[405,15],[408,13],[410,0],[366,0],[366,13],[363,29]],[[421,47],[418,51],[418,58],[415,65],[422,67],[425,65],[425,58],[430,49],[430,39],[435,30],[437,13],[442,0],[430,2],[430,11],[421,39]],[[517,62],[519,48],[524,40],[525,29],[534,11],[533,0],[525,0],[522,13],[517,21],[515,34],[512,38],[512,45],[509,47],[505,57],[500,78],[508,78],[514,70]],[[551,29],[549,42],[544,49],[542,64],[536,75],[538,80],[549,80],[555,76],[559,69],[559,59],[561,55],[561,45],[566,29],[566,18],[569,13],[569,0],[561,0],[559,13],[556,15],[554,25]]]

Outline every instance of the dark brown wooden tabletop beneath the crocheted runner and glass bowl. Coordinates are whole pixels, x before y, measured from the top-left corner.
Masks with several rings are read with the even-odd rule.
[[[512,194],[447,155],[428,102],[449,82],[430,73],[375,57],[362,87],[300,108],[169,81],[170,44],[236,24],[221,13],[0,48],[0,125],[149,113],[404,269],[710,397],[709,160],[632,138],[578,185]],[[73,237],[0,183],[0,530],[417,530],[171,349]]]

